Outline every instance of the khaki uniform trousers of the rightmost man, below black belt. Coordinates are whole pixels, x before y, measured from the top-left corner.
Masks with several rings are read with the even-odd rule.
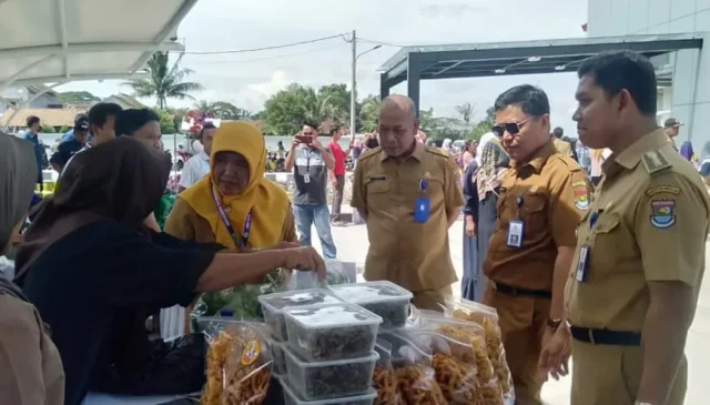
[[[633,405],[642,371],[640,346],[594,345],[572,338],[571,405]],[[683,405],[687,383],[683,356],[666,405]]]

